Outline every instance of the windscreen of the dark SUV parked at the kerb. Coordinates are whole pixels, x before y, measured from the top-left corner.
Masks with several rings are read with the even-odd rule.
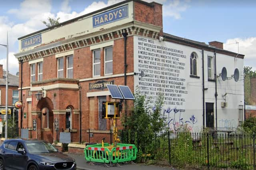
[[[50,143],[44,141],[25,141],[28,152],[30,153],[51,153],[58,152]]]

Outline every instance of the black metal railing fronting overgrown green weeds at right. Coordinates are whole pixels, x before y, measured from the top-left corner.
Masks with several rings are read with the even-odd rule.
[[[121,131],[122,143],[138,147],[138,161],[156,161],[184,168],[256,169],[255,134],[230,128],[200,133]],[[188,167],[187,167],[188,168]]]

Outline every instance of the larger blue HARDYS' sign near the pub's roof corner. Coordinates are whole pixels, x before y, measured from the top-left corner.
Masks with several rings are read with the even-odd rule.
[[[92,17],[93,27],[98,27],[107,23],[122,20],[128,17],[128,5],[98,14]]]

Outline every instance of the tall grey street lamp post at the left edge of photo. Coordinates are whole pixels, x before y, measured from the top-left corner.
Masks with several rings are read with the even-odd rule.
[[[8,122],[8,32],[7,32],[7,43],[6,45],[0,44],[6,47],[6,100],[5,100],[5,139],[7,139],[7,122]]]

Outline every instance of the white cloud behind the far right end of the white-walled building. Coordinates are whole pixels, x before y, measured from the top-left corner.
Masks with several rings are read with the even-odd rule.
[[[239,54],[245,55],[244,65],[256,70],[256,37],[228,39],[224,43],[224,49],[238,53],[238,44]]]

